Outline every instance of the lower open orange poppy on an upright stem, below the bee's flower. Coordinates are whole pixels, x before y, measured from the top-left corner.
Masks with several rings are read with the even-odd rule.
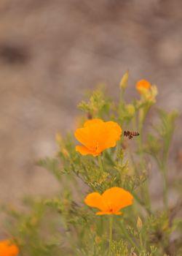
[[[111,187],[111,189],[106,189],[102,195],[98,192],[90,193],[85,197],[84,203],[87,206],[98,208],[100,211],[96,215],[119,215],[122,214],[120,211],[122,208],[132,205],[132,199],[130,192],[120,187]]]

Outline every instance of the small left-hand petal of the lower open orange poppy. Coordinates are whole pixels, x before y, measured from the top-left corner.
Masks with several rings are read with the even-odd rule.
[[[87,195],[84,199],[84,203],[86,203],[87,206],[98,208],[100,211],[108,210],[106,203],[103,201],[103,197],[98,192],[93,192]]]

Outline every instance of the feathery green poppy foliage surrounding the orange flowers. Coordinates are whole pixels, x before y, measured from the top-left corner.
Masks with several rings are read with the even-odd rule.
[[[115,148],[101,157],[82,156],[75,151],[73,134],[57,135],[58,153],[37,163],[45,167],[60,183],[60,195],[29,204],[24,214],[9,211],[9,235],[20,246],[22,255],[108,255],[108,217],[96,217],[84,206],[86,192],[102,193],[110,187],[122,187],[132,193],[135,203],[114,217],[114,256],[180,256],[182,218],[180,207],[168,203],[167,162],[175,129],[176,112],[157,110],[158,124],[144,139],[145,121],[155,104],[157,89],[126,103],[128,73],[120,83],[116,104],[103,91],[96,90],[79,109],[87,118],[103,118],[121,124],[122,129],[136,130],[140,136],[128,140],[122,136]],[[149,192],[149,162],[156,161],[163,180],[163,207],[152,208]],[[178,191],[181,192],[181,191]],[[82,196],[81,196],[82,195]],[[30,203],[30,202],[29,202]],[[181,202],[178,202],[181,206]],[[175,240],[173,237],[175,236]]]

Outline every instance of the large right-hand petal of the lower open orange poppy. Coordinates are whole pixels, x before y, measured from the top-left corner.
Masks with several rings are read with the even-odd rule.
[[[106,201],[109,208],[112,208],[114,213],[118,212],[121,208],[130,206],[132,204],[132,195],[130,192],[120,188],[112,187],[103,192],[103,200]]]

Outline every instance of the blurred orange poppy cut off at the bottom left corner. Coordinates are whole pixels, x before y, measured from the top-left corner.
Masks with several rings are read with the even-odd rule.
[[[0,241],[0,256],[17,256],[19,249],[9,240]]]

